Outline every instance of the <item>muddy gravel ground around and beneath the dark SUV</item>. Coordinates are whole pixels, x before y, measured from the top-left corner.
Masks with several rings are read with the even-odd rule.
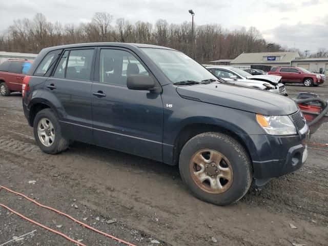
[[[328,99],[327,84],[286,87],[290,97],[313,91]],[[311,142],[328,143],[327,129],[322,125]],[[193,197],[176,167],[79,142],[58,155],[43,153],[21,95],[0,96],[0,185],[136,245],[328,245],[328,148],[310,147],[326,151],[310,148],[299,171],[217,207]],[[119,244],[3,189],[0,203],[86,245]],[[33,230],[8,245],[73,245],[0,207],[0,245]]]

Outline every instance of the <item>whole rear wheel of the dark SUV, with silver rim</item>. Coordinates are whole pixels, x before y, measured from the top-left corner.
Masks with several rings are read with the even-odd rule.
[[[38,147],[47,154],[63,152],[70,145],[70,140],[61,136],[60,125],[52,109],[43,109],[36,114],[33,133]]]

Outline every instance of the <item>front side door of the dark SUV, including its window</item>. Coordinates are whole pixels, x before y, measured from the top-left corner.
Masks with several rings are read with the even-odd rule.
[[[92,85],[95,144],[162,161],[161,95],[126,87],[128,75],[147,75],[148,70],[125,50],[101,49],[97,71],[100,82]]]

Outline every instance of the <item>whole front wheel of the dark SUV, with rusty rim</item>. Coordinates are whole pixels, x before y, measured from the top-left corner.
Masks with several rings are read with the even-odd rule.
[[[179,159],[182,180],[199,199],[220,206],[238,201],[252,183],[251,160],[234,138],[207,132],[191,138]]]

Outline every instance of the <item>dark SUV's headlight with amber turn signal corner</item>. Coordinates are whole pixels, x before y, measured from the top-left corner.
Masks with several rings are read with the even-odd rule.
[[[287,115],[256,115],[258,124],[270,135],[296,134],[293,121]]]

